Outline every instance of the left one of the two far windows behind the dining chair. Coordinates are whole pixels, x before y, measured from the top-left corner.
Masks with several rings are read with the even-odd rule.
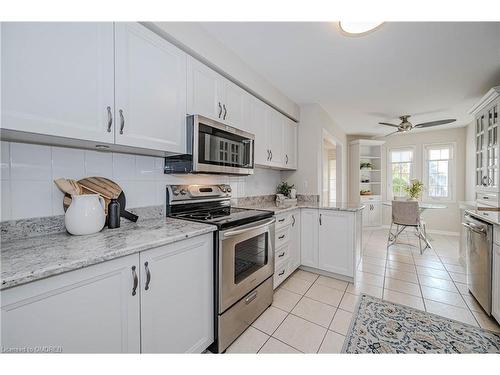
[[[413,178],[413,148],[389,150],[389,191],[393,197],[404,197],[404,188]]]

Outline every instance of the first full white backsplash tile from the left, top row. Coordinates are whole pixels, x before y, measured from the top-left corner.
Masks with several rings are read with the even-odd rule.
[[[10,161],[12,180],[49,181],[52,179],[51,147],[11,143]]]

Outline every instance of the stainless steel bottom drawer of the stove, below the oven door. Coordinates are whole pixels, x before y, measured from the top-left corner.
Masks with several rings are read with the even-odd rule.
[[[218,349],[223,352],[257,317],[273,303],[270,277],[219,316]]]

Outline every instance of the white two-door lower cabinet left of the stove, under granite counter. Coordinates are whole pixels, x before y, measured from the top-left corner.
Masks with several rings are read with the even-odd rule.
[[[213,235],[6,289],[1,297],[4,350],[200,353],[214,334]]]

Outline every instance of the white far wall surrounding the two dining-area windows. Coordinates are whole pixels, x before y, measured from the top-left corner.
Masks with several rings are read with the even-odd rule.
[[[428,132],[413,132],[403,135],[394,135],[386,138],[383,146],[383,163],[386,166],[385,185],[382,193],[382,200],[388,200],[387,181],[389,171],[387,170],[388,150],[393,147],[414,146],[415,147],[415,173],[414,178],[423,180],[423,147],[426,144],[454,142],[455,148],[455,197],[451,202],[443,202],[447,206],[443,210],[427,210],[424,213],[424,220],[428,230],[438,230],[445,232],[460,232],[460,213],[458,203],[465,199],[465,165],[466,165],[466,128],[456,128],[448,130],[435,130]],[[384,207],[384,223],[390,223],[390,208]]]

